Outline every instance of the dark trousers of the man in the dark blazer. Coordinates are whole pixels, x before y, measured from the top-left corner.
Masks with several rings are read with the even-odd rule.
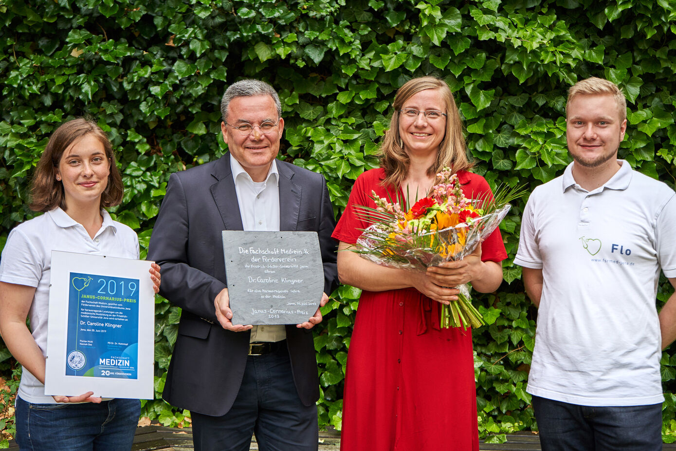
[[[205,387],[208,389],[208,387]],[[233,407],[222,417],[191,412],[195,451],[248,451],[256,434],[261,451],[316,451],[317,406],[304,406],[286,346],[249,356]]]

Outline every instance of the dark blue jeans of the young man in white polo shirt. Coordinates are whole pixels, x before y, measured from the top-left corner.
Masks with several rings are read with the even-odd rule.
[[[533,396],[542,451],[661,451],[662,404],[579,406]]]

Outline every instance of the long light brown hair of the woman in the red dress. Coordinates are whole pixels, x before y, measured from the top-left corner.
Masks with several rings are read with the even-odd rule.
[[[425,89],[440,89],[441,99],[445,105],[446,133],[439,143],[439,151],[434,164],[427,169],[427,174],[433,175],[448,166],[453,172],[472,167],[467,159],[467,150],[462,135],[462,120],[458,107],[453,99],[453,94],[445,81],[433,77],[424,76],[412,78],[397,90],[392,104],[394,112],[389,122],[389,130],[385,133],[385,139],[380,147],[381,167],[385,169],[385,181],[383,185],[398,187],[406,179],[410,159],[404,150],[402,137],[399,135],[399,118],[402,105],[412,96]]]

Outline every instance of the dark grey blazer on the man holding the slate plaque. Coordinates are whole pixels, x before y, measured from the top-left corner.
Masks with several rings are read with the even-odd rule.
[[[279,229],[316,231],[324,292],[337,285],[337,243],[326,181],[321,174],[276,160]],[[162,397],[181,408],[220,416],[230,410],[244,374],[249,336],[224,330],[214,298],[227,287],[221,231],[242,230],[230,154],[171,174],[150,239],[148,260],[162,267],[160,294],[183,309]],[[287,325],[295,389],[303,404],[319,398],[312,331]],[[293,387],[289,387],[293,389]]]

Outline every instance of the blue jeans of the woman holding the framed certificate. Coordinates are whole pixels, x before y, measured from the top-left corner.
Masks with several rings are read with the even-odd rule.
[[[21,451],[129,451],[141,402],[32,404],[17,396],[15,414]]]

